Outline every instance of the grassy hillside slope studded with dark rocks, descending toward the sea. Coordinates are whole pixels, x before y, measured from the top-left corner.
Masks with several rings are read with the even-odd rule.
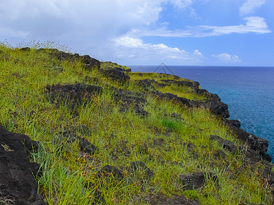
[[[39,141],[28,157],[48,204],[273,202],[267,141],[198,82],[5,44],[0,70],[1,126]],[[0,202],[18,204],[11,193],[0,180]]]

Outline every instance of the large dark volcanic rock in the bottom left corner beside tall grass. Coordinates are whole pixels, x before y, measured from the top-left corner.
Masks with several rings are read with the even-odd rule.
[[[37,148],[38,142],[0,126],[1,201],[7,204],[47,204],[38,194],[38,185],[34,180],[34,176],[41,174],[40,165],[30,163],[25,152]]]

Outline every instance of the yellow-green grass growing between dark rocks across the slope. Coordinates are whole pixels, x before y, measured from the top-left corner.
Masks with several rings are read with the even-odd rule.
[[[135,80],[140,79],[182,79],[129,72],[131,80],[121,85],[97,69],[85,70],[79,61],[58,61],[47,50],[37,52],[39,46],[34,45],[28,52],[3,43],[0,46],[0,122],[9,131],[41,142],[32,161],[42,167],[43,174],[36,180],[49,204],[90,204],[100,195],[106,204],[149,204],[148,199],[157,195],[184,195],[201,204],[272,203],[262,178],[244,165],[244,156],[223,150],[210,139],[210,135],[219,135],[241,144],[215,115],[147,95],[145,111],[149,115],[142,117],[133,107],[121,110],[123,105],[114,100],[110,90],[111,85],[138,92]],[[75,107],[77,115],[65,102],[56,107],[47,98],[47,85],[86,83],[86,76],[99,79],[88,83],[103,87],[103,92]],[[166,87],[162,92],[199,99],[188,96],[184,87]],[[88,131],[77,129],[83,125]],[[82,137],[99,152],[89,155],[80,151]],[[225,159],[216,158],[218,150],[225,152]],[[132,172],[130,163],[136,161],[151,169],[150,180],[142,169]],[[124,178],[98,177],[104,165],[119,168]],[[184,191],[179,175],[191,172],[212,172],[218,182],[206,176],[205,187]],[[87,183],[92,186],[85,187]]]

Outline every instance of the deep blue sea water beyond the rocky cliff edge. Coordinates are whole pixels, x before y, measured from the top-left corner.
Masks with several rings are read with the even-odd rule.
[[[134,72],[153,72],[158,66],[129,67]],[[268,153],[274,158],[274,67],[169,68],[177,76],[198,81],[203,89],[218,94],[222,102],[228,105],[229,119],[240,120],[242,129],[267,139]],[[157,72],[164,70],[159,68]]]

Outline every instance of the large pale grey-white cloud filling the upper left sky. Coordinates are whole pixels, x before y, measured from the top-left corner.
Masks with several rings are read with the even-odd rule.
[[[56,38],[71,32],[79,38],[106,38],[121,35],[132,27],[154,23],[164,1],[0,1],[0,26],[29,32],[30,38]]]

